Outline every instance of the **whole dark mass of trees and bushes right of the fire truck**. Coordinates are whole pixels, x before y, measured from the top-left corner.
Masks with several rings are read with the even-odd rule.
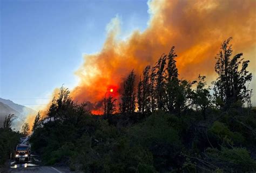
[[[32,150],[46,165],[83,172],[255,172],[252,73],[242,53],[232,56],[230,40],[216,56],[212,88],[204,75],[179,79],[174,47],[139,78],[131,71],[122,102],[106,96],[103,116],[61,87],[35,119]]]

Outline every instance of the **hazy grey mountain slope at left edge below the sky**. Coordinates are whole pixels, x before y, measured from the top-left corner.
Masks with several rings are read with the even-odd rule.
[[[18,105],[17,103],[0,98],[0,127],[3,125],[5,115],[15,114],[14,128],[19,130],[25,122],[26,116],[37,112],[29,107]]]

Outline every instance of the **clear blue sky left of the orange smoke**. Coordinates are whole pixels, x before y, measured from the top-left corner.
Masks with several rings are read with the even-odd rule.
[[[0,97],[30,107],[76,84],[83,54],[100,51],[116,15],[124,36],[149,20],[146,0],[0,1]]]

